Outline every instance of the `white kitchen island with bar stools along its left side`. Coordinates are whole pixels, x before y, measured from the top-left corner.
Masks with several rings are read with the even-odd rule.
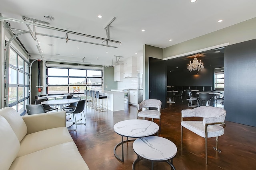
[[[124,92],[104,91],[100,92],[100,95],[108,97],[108,110],[124,110]],[[106,106],[104,107],[106,108]]]

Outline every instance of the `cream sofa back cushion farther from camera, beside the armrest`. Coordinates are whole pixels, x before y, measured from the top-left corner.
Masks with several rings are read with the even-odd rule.
[[[27,126],[22,117],[12,107],[4,107],[0,109],[0,115],[8,121],[20,142],[27,134]]]

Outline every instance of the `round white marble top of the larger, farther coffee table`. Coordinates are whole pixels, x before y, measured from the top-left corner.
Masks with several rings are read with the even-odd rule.
[[[154,135],[158,130],[156,123],[142,119],[124,120],[114,125],[114,131],[125,137],[146,137]]]

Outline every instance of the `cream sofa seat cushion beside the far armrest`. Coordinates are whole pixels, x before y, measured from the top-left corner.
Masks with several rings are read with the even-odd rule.
[[[73,139],[66,127],[31,133],[26,135],[20,142],[20,152],[17,157],[72,141]]]

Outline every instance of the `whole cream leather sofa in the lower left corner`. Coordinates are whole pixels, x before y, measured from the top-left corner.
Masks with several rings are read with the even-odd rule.
[[[0,169],[89,170],[65,120],[65,111],[20,116],[0,109]]]

